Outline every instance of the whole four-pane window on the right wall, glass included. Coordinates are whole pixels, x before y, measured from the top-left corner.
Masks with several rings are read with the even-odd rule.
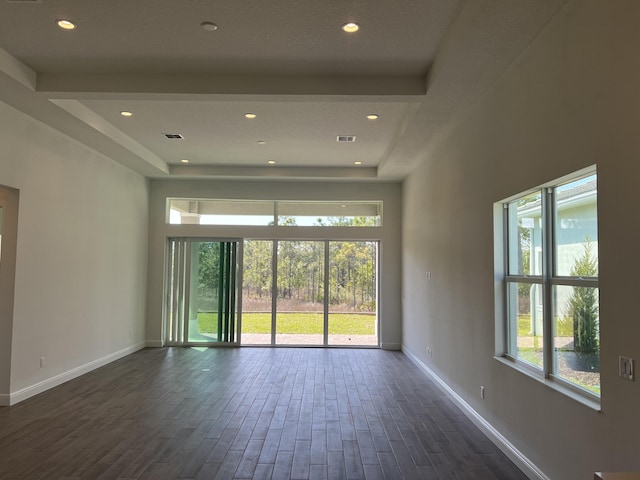
[[[501,202],[504,357],[600,397],[595,169]]]

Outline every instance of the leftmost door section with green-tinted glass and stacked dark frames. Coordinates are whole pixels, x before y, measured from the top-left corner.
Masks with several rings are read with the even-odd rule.
[[[239,248],[238,241],[169,240],[167,344],[237,342]]]

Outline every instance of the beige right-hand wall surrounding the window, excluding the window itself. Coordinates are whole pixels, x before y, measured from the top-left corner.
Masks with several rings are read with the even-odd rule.
[[[617,375],[640,361],[638,25],[639,2],[569,2],[403,188],[403,348],[552,479],[640,470],[640,382]],[[601,413],[493,358],[494,202],[592,164]]]

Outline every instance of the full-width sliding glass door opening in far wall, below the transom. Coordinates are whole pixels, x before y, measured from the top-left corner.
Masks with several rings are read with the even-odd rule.
[[[378,242],[168,240],[166,345],[379,346]]]

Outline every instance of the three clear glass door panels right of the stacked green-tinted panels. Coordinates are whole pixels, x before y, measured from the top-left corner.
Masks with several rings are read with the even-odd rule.
[[[378,243],[246,240],[244,345],[376,346]]]

